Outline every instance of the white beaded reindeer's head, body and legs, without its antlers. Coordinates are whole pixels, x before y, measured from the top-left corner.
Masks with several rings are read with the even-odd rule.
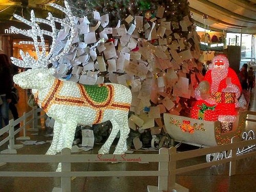
[[[113,129],[99,153],[109,153],[119,130],[120,139],[114,154],[125,153],[126,138],[130,132],[130,89],[120,84],[106,83],[100,87],[90,86],[91,89],[88,90],[82,84],[56,79],[51,71],[48,68],[29,69],[13,77],[14,82],[21,88],[33,89],[40,108],[55,119],[53,141],[47,154],[54,155],[62,148],[71,148],[77,124],[91,125],[108,120],[111,121]],[[97,102],[96,97],[93,100],[90,95],[93,96],[94,93],[90,92],[98,92],[102,88],[105,93],[104,101]]]

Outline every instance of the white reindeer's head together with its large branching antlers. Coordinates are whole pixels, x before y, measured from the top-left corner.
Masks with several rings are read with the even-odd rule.
[[[22,57],[22,59],[11,57],[14,65],[22,68],[31,68],[25,72],[14,75],[13,77],[14,82],[24,89],[44,88],[47,85],[46,82],[51,81],[54,78],[52,76],[54,70],[48,69],[48,65],[55,61],[61,60],[60,58],[69,52],[73,44],[75,37],[75,17],[71,12],[69,4],[66,1],[64,3],[66,9],[56,4],[50,4],[52,7],[59,9],[67,15],[64,19],[53,17],[51,13],[48,13],[48,17],[46,19],[36,18],[33,11],[31,11],[30,20],[27,20],[18,15],[14,15],[14,17],[19,19],[21,22],[29,25],[31,29],[22,30],[11,27],[12,30],[16,33],[21,33],[25,36],[31,37],[33,41],[22,41],[22,43],[34,45],[37,55],[37,59],[35,59],[28,53],[25,54],[22,50],[20,50],[20,56]],[[61,26],[64,27],[66,30],[69,30],[69,36],[67,36],[67,38],[65,39],[65,47],[62,47],[61,49],[56,48],[58,47],[59,43],[59,30],[56,29],[56,22],[60,23]],[[52,28],[52,32],[40,29],[38,23],[49,25]],[[49,54],[47,54],[46,52],[44,35],[52,37],[52,45]],[[38,37],[40,41],[38,41]],[[61,44],[63,45],[63,42],[61,42]],[[42,47],[41,51],[39,50],[39,46]]]

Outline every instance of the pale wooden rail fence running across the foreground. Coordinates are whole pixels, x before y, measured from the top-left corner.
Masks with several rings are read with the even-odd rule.
[[[34,111],[33,111],[34,110]],[[31,115],[37,115],[37,110],[33,109]],[[37,117],[35,117],[37,122]],[[35,124],[35,119],[32,120]],[[11,127],[13,126],[10,125]],[[22,129],[22,127],[20,127]],[[16,132],[16,131],[15,131]],[[12,139],[9,136],[9,139]],[[0,142],[1,144],[1,142]],[[11,142],[10,142],[11,145]],[[191,150],[186,152],[176,152],[176,147],[161,148],[159,154],[125,154],[125,155],[72,155],[71,150],[65,148],[59,155],[0,155],[0,163],[58,163],[62,164],[62,172],[22,172],[22,171],[1,171],[1,177],[60,177],[61,188],[54,188],[54,191],[71,191],[71,177],[122,177],[122,176],[157,176],[158,186],[147,186],[149,192],[155,191],[189,191],[187,188],[180,186],[176,183],[176,175],[191,172],[193,170],[210,167],[212,165],[218,165],[229,162],[229,176],[236,174],[236,162],[239,159],[244,159],[252,156],[256,156],[256,152],[253,150],[237,155],[239,148],[246,146],[256,145],[256,139],[250,139],[246,141],[232,142],[230,144],[218,145],[208,148],[200,148],[198,150]],[[15,144],[14,144],[15,146]],[[15,148],[15,147],[14,147]],[[196,165],[185,166],[177,168],[177,161],[185,160],[189,158],[195,158],[199,156],[205,156],[207,154],[215,154],[219,152],[230,151],[231,156],[229,158],[199,163]],[[158,162],[158,170],[127,170],[127,171],[88,171],[88,172],[75,172],[71,170],[71,163],[105,163],[105,162]]]

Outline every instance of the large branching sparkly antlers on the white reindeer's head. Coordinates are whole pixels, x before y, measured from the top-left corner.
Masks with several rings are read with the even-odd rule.
[[[33,39],[33,41],[26,41],[26,44],[34,45],[36,55],[37,55],[37,60],[36,60],[28,53],[26,53],[26,55],[25,55],[24,52],[22,50],[20,50],[19,53],[20,53],[20,56],[22,56],[22,59],[17,59],[17,58],[11,57],[14,65],[23,67],[23,68],[47,67],[49,63],[57,61],[59,58],[61,58],[63,55],[66,55],[69,52],[69,50],[73,44],[74,37],[75,37],[75,24],[74,24],[75,17],[73,16],[73,14],[71,12],[68,2],[65,1],[64,3],[65,3],[66,9],[59,5],[56,5],[56,4],[50,4],[52,7],[59,9],[60,11],[62,11],[63,13],[65,13],[67,15],[67,17],[64,19],[53,17],[51,13],[48,13],[48,17],[46,18],[47,20],[42,19],[42,18],[37,18],[37,17],[35,17],[33,10],[31,11],[31,21],[29,21],[23,17],[20,17],[19,15],[16,15],[16,14],[13,15],[15,18],[17,18],[21,22],[23,22],[31,27],[31,29],[29,29],[29,30],[22,30],[22,29],[18,29],[16,27],[11,27],[11,29],[17,33],[31,37]],[[63,50],[61,51],[61,53],[58,53],[58,54],[54,54],[54,50],[57,45],[57,36],[58,36],[58,33],[57,33],[58,30],[56,29],[55,22],[60,23],[61,26],[63,26],[66,29],[68,28],[68,30],[70,31],[70,35],[66,42],[65,47],[63,47],[62,48]],[[47,24],[47,25],[51,26],[52,32],[44,30],[44,29],[40,29],[40,27],[37,23],[43,23],[43,24]],[[44,35],[48,35],[48,36],[52,37],[52,47],[51,47],[51,50],[48,55],[46,55],[46,46],[45,46]],[[40,42],[38,42],[37,37],[40,38]],[[24,41],[22,41],[22,42],[24,43]],[[41,53],[39,51],[39,46],[42,46]]]

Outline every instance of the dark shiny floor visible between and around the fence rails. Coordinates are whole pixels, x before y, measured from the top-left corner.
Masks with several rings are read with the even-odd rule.
[[[256,111],[255,104],[255,88],[251,94],[250,110]],[[19,115],[22,116],[23,112],[30,111],[31,108],[26,104],[27,95],[25,91],[20,90],[20,101],[17,104]],[[255,117],[254,117],[255,118]],[[50,138],[45,137],[47,130],[44,127],[44,122],[41,121],[42,127],[38,132],[38,135],[31,135],[31,140],[46,141]],[[247,123],[247,127],[254,129],[256,123]],[[256,130],[255,130],[256,131]],[[45,154],[50,144],[42,145],[26,145],[23,148],[17,150],[18,154]],[[4,150],[7,146],[0,147],[0,151]],[[93,150],[89,152],[79,152],[83,154],[97,154],[100,145],[96,145]],[[178,151],[192,150],[193,146],[182,144]],[[112,149],[113,150],[113,149]],[[158,153],[158,152],[134,152],[134,153]],[[1,155],[0,155],[1,158]],[[226,192],[226,191],[256,191],[256,157],[239,160],[237,166],[237,174],[229,177],[229,165],[222,164],[219,166],[212,166],[209,168],[200,169],[194,172],[188,172],[177,176],[176,182],[186,188],[189,191],[195,192]],[[184,164],[193,164],[196,162],[205,162],[205,157],[199,157],[190,159],[189,161],[182,161],[177,166],[183,166]],[[25,163],[8,163],[0,170],[38,170],[38,171],[52,171],[55,170],[56,164],[25,164]],[[83,163],[74,164],[72,169],[74,170],[147,170],[158,169],[157,163]],[[0,172],[1,174],[1,172]],[[32,177],[1,177],[0,175],[0,192],[34,192],[34,191],[52,191],[53,187],[58,187],[60,184],[59,178],[32,178]],[[130,192],[147,191],[147,185],[157,186],[157,177],[77,177],[72,180],[72,191],[80,192]]]

